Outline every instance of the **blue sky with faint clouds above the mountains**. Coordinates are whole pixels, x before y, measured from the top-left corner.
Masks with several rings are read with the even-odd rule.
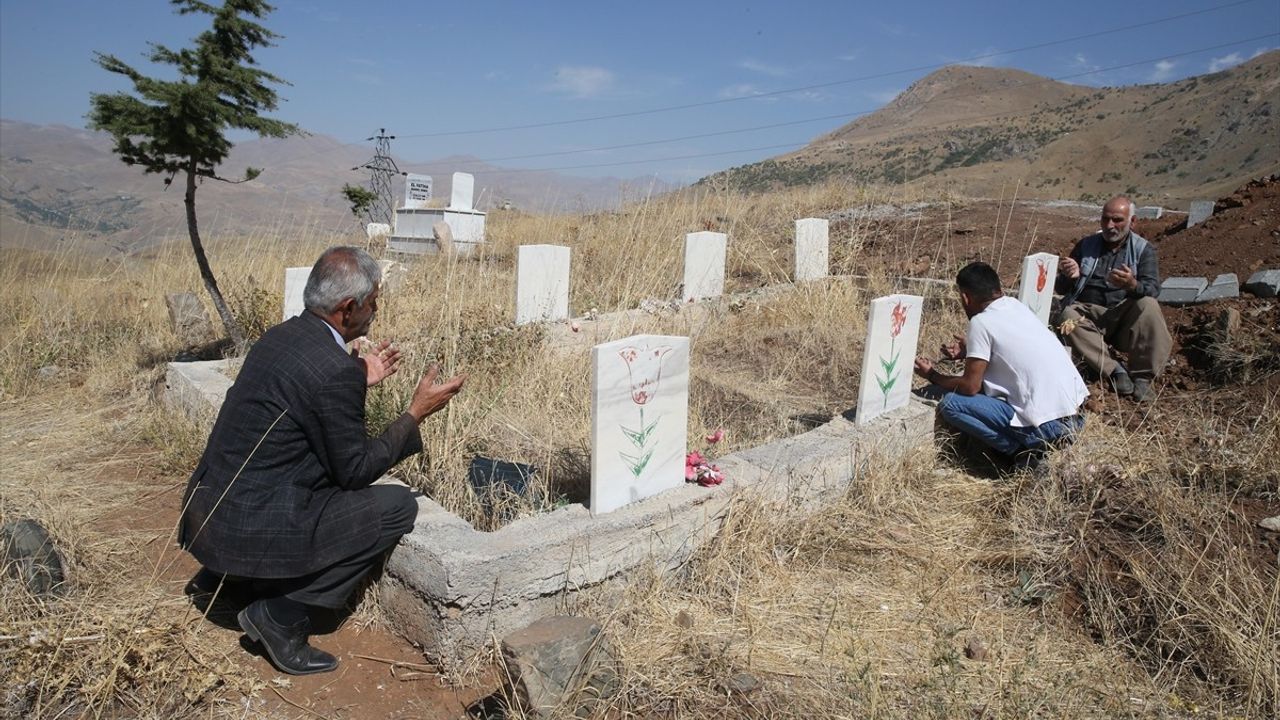
[[[385,127],[401,163],[677,182],[799,147],[948,63],[1121,86],[1280,46],[1276,0],[278,0],[265,24],[284,37],[257,59],[292,83],[275,117],[310,132],[371,154]],[[143,65],[148,41],[204,27],[164,0],[0,0],[0,115],[83,127],[91,91],[125,87],[95,50]],[[474,132],[539,123],[557,124]]]

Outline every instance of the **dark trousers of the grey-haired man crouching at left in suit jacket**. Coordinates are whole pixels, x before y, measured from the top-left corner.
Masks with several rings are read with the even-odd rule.
[[[376,568],[401,536],[413,529],[417,501],[403,486],[370,486],[360,492],[371,493],[379,510],[378,542],[323,570],[301,578],[250,579],[256,597],[284,596],[303,605],[342,609],[360,582]],[[247,578],[246,578],[247,579]]]

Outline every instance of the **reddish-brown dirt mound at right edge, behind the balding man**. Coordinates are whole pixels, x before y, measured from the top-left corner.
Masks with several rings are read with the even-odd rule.
[[[1157,227],[1147,238],[1156,243],[1165,278],[1235,273],[1243,283],[1257,270],[1280,268],[1280,176],[1249,181],[1193,228],[1185,219]]]

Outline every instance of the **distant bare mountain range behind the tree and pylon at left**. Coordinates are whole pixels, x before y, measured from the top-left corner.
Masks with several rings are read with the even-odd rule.
[[[339,195],[367,173],[351,168],[372,150],[321,136],[251,140],[236,145],[219,170],[252,182],[206,181],[197,193],[201,232],[209,237],[257,233],[344,233],[357,229]],[[671,190],[649,179],[579,178],[526,172],[453,156],[426,164],[399,161],[401,170],[431,174],[435,193],[448,197],[454,170],[476,177],[476,205],[511,205],[531,211],[580,211],[617,206],[649,192]],[[403,184],[397,182],[397,192]],[[398,197],[403,197],[399,195]],[[186,240],[182,191],[165,190],[111,152],[110,137],[65,126],[0,120],[0,243],[88,251],[134,251],[170,238]]]

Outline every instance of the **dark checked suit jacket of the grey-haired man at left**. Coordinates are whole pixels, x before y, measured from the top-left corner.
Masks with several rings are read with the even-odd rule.
[[[361,488],[422,450],[401,415],[365,430],[365,370],[317,315],[268,331],[244,357],[183,500],[178,542],[215,573],[297,578],[371,547]]]

